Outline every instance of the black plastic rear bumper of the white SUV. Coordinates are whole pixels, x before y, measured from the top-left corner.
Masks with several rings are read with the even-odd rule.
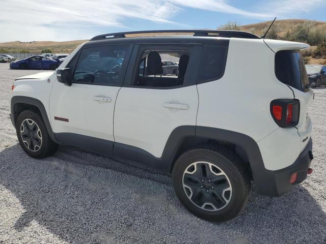
[[[272,171],[265,169],[265,172],[261,172],[259,178],[262,179],[263,177],[265,180],[259,180],[259,185],[256,183],[257,193],[271,197],[282,196],[307,178],[308,168],[312,159],[312,140],[310,138],[306,148],[293,164],[280,170]],[[290,177],[295,172],[297,172],[297,179],[291,184]]]

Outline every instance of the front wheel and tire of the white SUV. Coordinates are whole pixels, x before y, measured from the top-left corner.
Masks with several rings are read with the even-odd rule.
[[[45,158],[58,149],[59,145],[51,140],[42,117],[34,111],[25,110],[18,115],[16,133],[22,149],[33,158]]]

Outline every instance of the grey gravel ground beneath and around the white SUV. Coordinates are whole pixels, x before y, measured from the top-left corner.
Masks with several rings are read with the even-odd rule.
[[[180,205],[168,176],[72,147],[28,157],[9,93],[37,72],[0,64],[0,243],[326,243],[326,88],[309,110],[313,174],[280,198],[253,192],[239,217],[213,224]]]

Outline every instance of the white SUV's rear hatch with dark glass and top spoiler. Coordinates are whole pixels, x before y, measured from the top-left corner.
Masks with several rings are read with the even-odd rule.
[[[301,136],[301,151],[306,147],[311,136],[311,120],[308,109],[313,102],[313,90],[309,84],[304,59],[300,50],[309,47],[305,43],[264,40],[275,54],[275,74],[293,92],[293,98],[300,101],[300,117],[297,128]]]

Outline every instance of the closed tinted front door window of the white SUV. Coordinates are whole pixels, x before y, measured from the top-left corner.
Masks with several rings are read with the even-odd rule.
[[[128,46],[101,46],[83,49],[79,55],[73,81],[99,85],[121,84],[123,77],[120,75],[120,70],[127,49]]]

